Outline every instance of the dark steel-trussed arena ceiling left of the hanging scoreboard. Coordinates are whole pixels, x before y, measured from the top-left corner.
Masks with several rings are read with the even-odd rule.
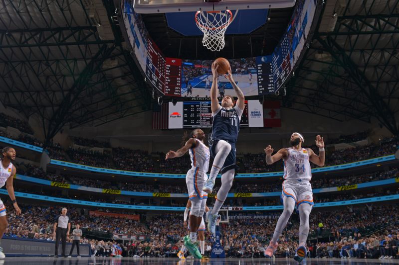
[[[112,1],[1,1],[1,102],[37,114],[46,139],[149,110],[114,13]]]

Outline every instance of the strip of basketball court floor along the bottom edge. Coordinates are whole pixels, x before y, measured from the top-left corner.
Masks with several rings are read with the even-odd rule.
[[[179,261],[177,258],[41,258],[10,257],[0,261],[0,265],[298,265],[293,259],[210,259]],[[306,259],[303,265],[374,265],[399,264],[399,260],[370,259]]]

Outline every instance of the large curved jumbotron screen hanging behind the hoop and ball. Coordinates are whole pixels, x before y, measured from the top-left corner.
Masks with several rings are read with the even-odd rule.
[[[291,22],[273,54],[228,59],[233,79],[245,96],[273,94],[292,73],[316,11],[317,0],[297,0]],[[212,61],[167,58],[151,39],[132,3],[124,2],[124,23],[129,42],[148,81],[163,94],[178,97],[208,97],[213,78]],[[234,94],[231,84],[219,76],[218,89]],[[231,90],[231,91],[229,91]]]

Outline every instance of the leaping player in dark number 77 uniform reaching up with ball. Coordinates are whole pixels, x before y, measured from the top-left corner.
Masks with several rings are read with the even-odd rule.
[[[237,102],[234,106],[234,99],[231,96],[224,96],[221,106],[217,99],[217,64],[212,64],[213,82],[210,88],[210,100],[212,110],[212,144],[210,155],[214,158],[210,169],[209,179],[203,187],[203,191],[212,192],[215,179],[219,171],[221,172],[221,186],[217,192],[216,201],[211,211],[206,213],[208,220],[208,231],[215,233],[216,219],[218,212],[227,197],[227,193],[233,184],[235,165],[235,143],[237,142],[238,131],[240,129],[240,119],[244,111],[244,94],[235,84],[231,75],[231,69],[224,75],[230,82],[237,94]]]

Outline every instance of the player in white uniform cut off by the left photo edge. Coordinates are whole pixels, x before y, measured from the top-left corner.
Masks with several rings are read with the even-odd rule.
[[[12,165],[11,161],[15,160],[15,149],[11,147],[4,147],[1,149],[0,154],[0,187],[4,186],[7,188],[7,192],[9,197],[11,198],[12,204],[15,208],[15,214],[19,215],[21,213],[21,209],[19,209],[18,204],[15,200],[14,195],[14,186],[12,185],[13,177],[16,174],[16,169]],[[5,207],[3,202],[0,200],[0,235],[2,236],[5,232],[5,229],[8,226],[7,216],[5,213]],[[1,237],[0,237],[1,240]],[[3,253],[3,249],[0,247],[0,259],[4,259],[5,255]]]

